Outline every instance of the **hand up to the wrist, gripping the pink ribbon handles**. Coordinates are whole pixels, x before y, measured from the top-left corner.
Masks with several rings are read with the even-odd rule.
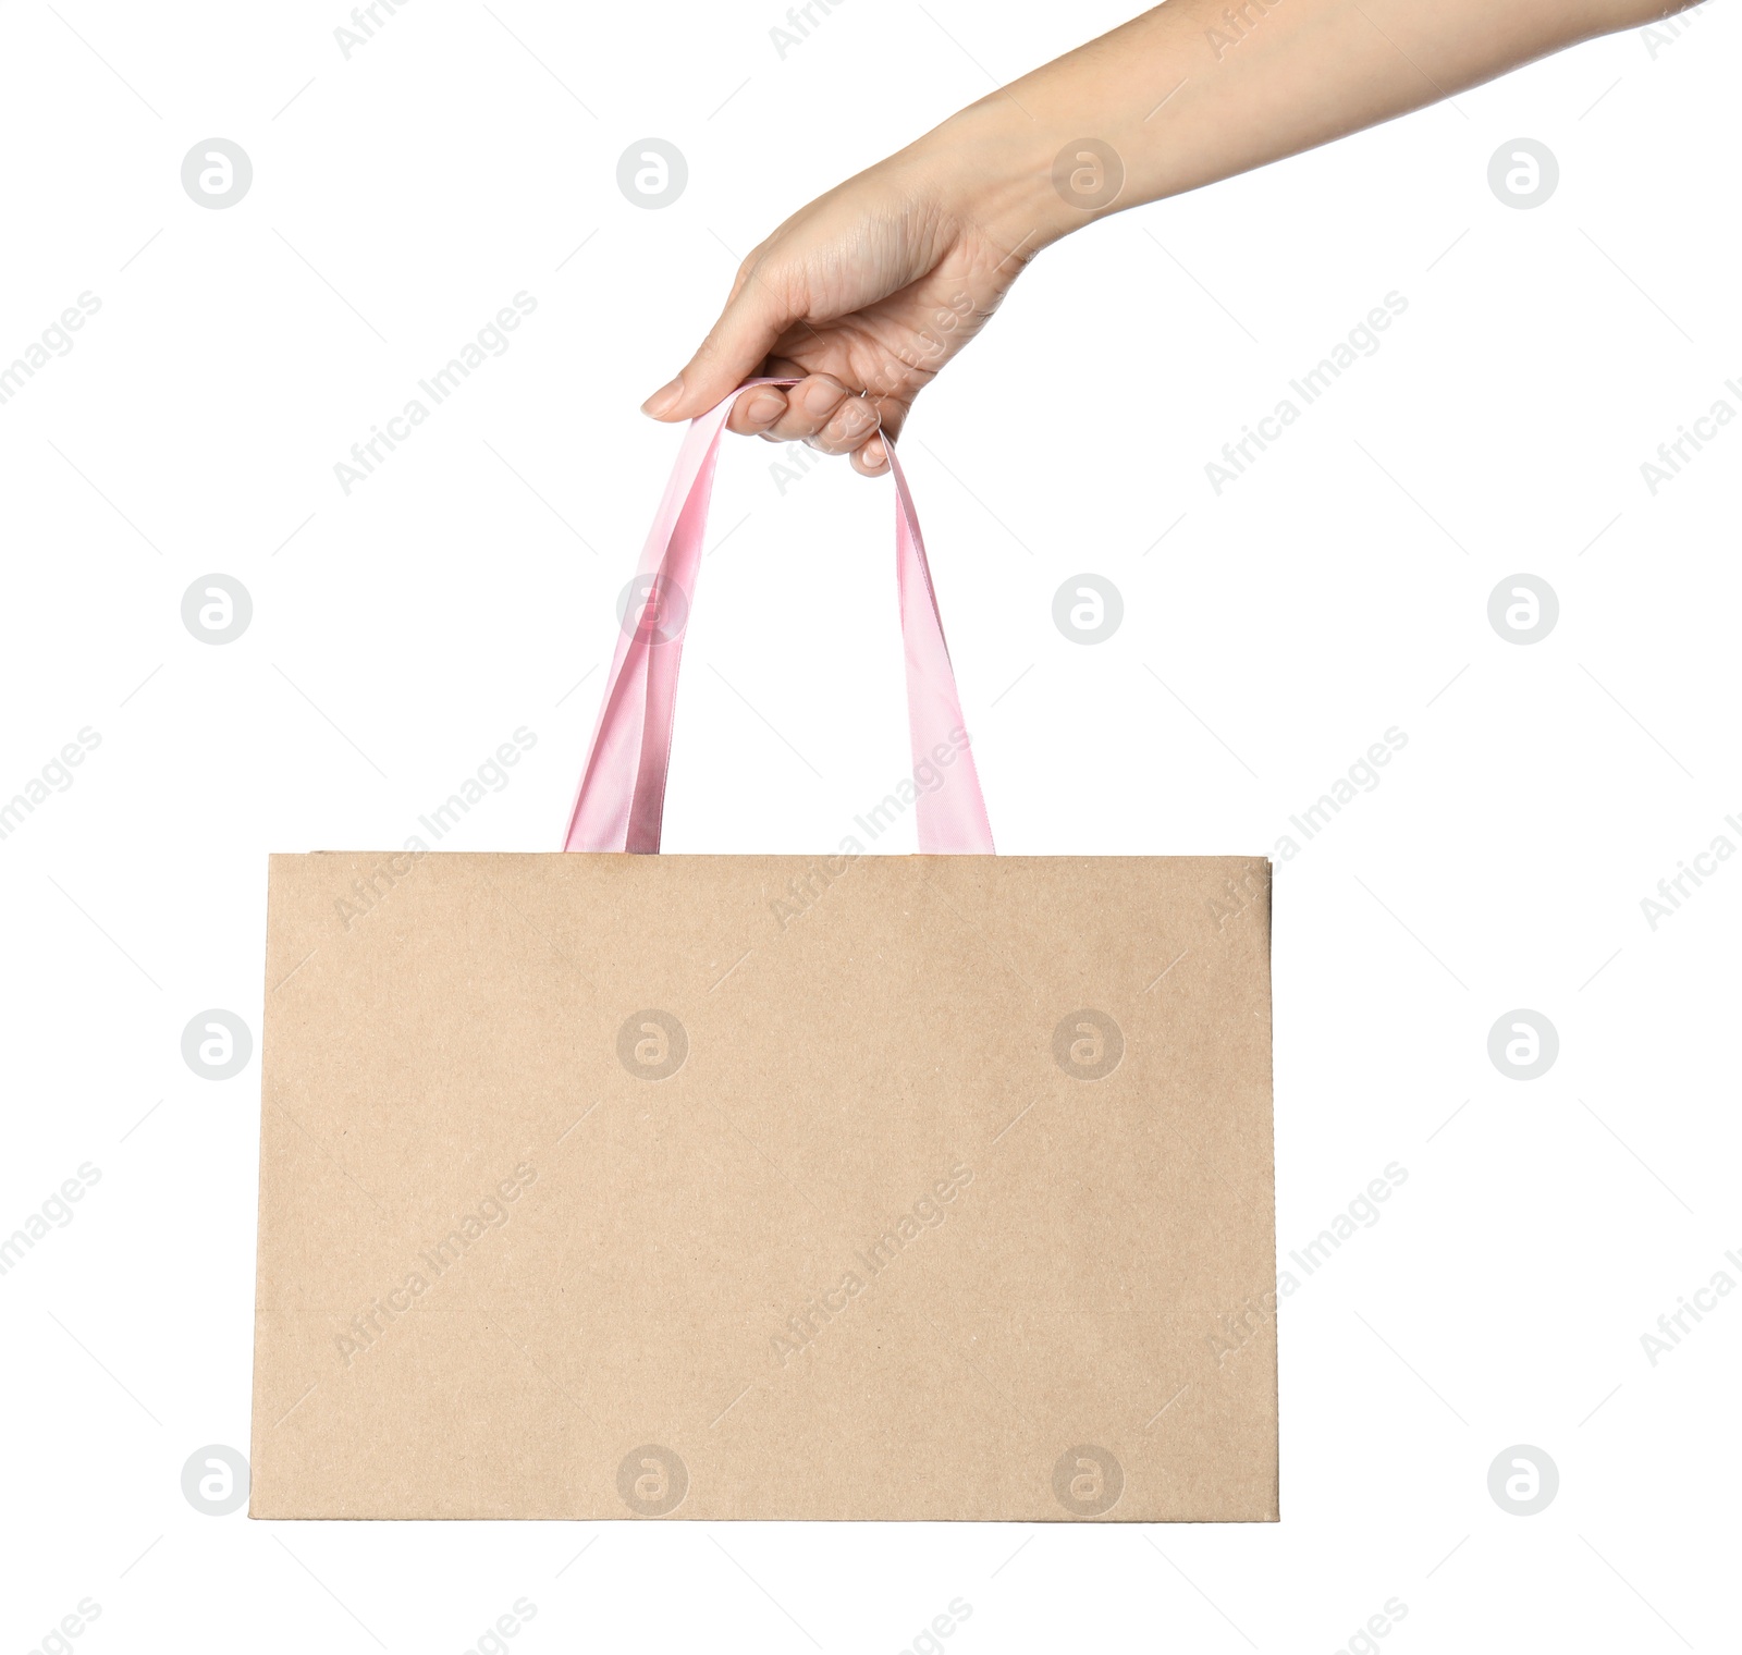
[[[643,411],[688,420],[754,375],[798,378],[740,397],[730,429],[883,472],[883,434],[901,430],[1035,251],[979,223],[956,171],[922,139],[789,218],[744,260],[719,321]]]

